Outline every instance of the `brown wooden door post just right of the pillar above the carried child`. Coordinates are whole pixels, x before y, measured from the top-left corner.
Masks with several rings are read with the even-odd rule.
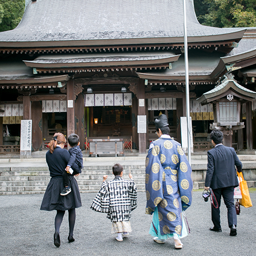
[[[76,98],[75,120],[75,133],[79,136],[81,150],[84,150],[84,98],[82,93],[78,94]]]

